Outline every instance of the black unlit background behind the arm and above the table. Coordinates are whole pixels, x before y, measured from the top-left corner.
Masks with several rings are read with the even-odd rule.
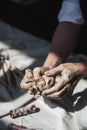
[[[29,5],[0,0],[0,20],[39,38],[51,41],[58,24],[61,0],[38,0]],[[75,53],[87,54],[87,24],[82,26]]]

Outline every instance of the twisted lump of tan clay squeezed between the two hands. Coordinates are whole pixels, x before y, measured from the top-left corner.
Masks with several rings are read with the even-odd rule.
[[[39,78],[34,79],[34,76],[38,77],[38,73],[29,69],[25,71],[25,76],[23,78],[22,84],[26,84],[26,88],[30,94],[41,95],[42,91],[52,87],[55,84],[54,77],[48,77],[42,75]]]

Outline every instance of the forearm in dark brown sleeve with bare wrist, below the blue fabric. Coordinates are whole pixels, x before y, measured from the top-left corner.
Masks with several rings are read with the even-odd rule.
[[[43,66],[56,67],[62,63],[73,51],[78,40],[80,25],[59,23],[52,38],[50,52]]]

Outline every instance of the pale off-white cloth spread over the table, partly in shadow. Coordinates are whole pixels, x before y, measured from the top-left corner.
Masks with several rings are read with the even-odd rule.
[[[0,22],[0,52],[2,55],[9,55],[11,64],[23,72],[26,68],[34,68],[42,65],[50,43],[19,31],[3,22]],[[71,55],[69,61],[87,60],[83,55]],[[14,102],[20,106],[19,99],[26,102],[30,95],[25,90],[15,89],[13,97],[9,95],[3,82],[3,72],[0,70],[0,113],[8,108],[14,108]],[[0,116],[0,129],[7,130],[9,123],[24,125],[37,130],[86,130],[87,129],[87,80],[81,79],[76,85],[72,95],[60,100],[50,100],[39,97],[28,105],[36,105],[40,111],[31,115],[12,119],[9,115]],[[28,100],[27,100],[28,102]],[[7,105],[3,108],[3,103]],[[2,112],[1,112],[2,111]]]

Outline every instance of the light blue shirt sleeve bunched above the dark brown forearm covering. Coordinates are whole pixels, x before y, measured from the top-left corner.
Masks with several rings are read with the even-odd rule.
[[[58,14],[59,22],[72,22],[84,24],[84,17],[81,12],[79,0],[63,0],[61,10]]]

